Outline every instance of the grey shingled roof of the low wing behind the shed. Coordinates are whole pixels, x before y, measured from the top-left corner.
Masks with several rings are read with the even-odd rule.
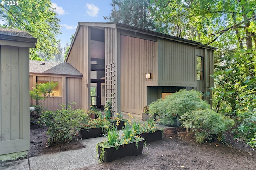
[[[69,63],[29,60],[29,74],[62,75],[63,77],[83,75]]]

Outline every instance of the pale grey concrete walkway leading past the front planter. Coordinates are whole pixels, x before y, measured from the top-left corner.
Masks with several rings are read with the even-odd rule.
[[[157,126],[160,129],[170,128],[162,125]],[[97,165],[99,160],[96,158],[96,144],[104,139],[105,137],[80,140],[85,146],[82,149],[44,154],[11,162],[0,162],[0,170],[74,170]]]

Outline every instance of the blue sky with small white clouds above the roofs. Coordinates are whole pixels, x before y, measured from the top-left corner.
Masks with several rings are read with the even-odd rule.
[[[112,0],[51,0],[54,11],[60,18],[62,34],[57,36],[62,46],[70,43],[78,22],[107,22],[103,16],[110,16]]]

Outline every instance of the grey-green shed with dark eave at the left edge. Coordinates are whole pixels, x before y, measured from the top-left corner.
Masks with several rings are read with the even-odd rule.
[[[0,162],[30,149],[29,48],[36,43],[25,31],[0,28]]]

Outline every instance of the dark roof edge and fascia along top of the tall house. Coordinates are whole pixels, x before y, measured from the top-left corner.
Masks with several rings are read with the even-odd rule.
[[[100,28],[104,29],[105,27],[107,27],[107,28],[119,28],[119,29],[122,29],[122,30],[134,31],[136,33],[147,34],[147,35],[156,36],[156,37],[159,37],[159,38],[165,38],[165,39],[173,40],[173,41],[176,41],[176,42],[182,42],[182,43],[188,43],[188,44],[196,45],[198,48],[202,47],[202,48],[212,49],[212,50],[217,49],[215,47],[211,47],[211,46],[208,46],[208,45],[203,45],[200,42],[196,42],[196,41],[192,41],[192,40],[188,40],[188,39],[180,38],[180,37],[176,37],[176,36],[170,36],[168,34],[162,34],[160,32],[154,32],[154,31],[151,31],[151,30],[146,30],[144,28],[130,26],[130,25],[127,25],[127,24],[121,24],[121,23],[118,23],[118,22],[116,22],[116,23],[113,23],[113,22],[78,22],[78,26],[76,28],[74,38],[73,38],[73,40],[70,44],[70,48],[68,50],[67,56],[69,56],[69,54],[70,54],[70,51],[71,51],[72,46],[74,44],[74,40],[76,39],[76,35],[78,34],[80,26],[91,26],[91,27],[96,27],[98,29],[100,29]],[[66,57],[65,62],[67,61],[67,59],[68,59],[68,57]]]

